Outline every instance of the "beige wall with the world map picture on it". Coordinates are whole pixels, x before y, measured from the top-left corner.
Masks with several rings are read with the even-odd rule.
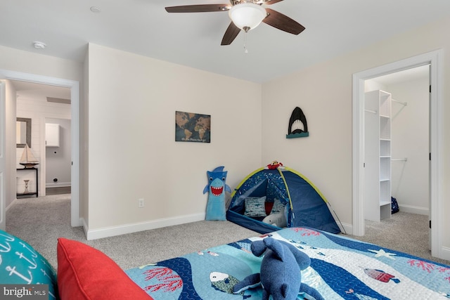
[[[88,238],[204,219],[206,171],[224,165],[234,188],[260,167],[261,97],[260,84],[90,44]],[[176,110],[211,115],[211,143],[175,142]]]

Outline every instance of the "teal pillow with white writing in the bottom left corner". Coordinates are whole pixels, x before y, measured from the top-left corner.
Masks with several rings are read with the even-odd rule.
[[[49,299],[58,298],[56,272],[27,242],[0,230],[1,284],[49,285]]]

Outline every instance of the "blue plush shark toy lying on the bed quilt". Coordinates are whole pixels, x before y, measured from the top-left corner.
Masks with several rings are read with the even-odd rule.
[[[249,275],[234,285],[234,294],[262,285],[262,300],[269,300],[269,296],[274,300],[294,300],[299,293],[307,294],[307,299],[324,300],[316,289],[302,283],[301,270],[311,263],[307,254],[272,237],[252,242],[251,249],[255,256],[265,253],[261,273]]]

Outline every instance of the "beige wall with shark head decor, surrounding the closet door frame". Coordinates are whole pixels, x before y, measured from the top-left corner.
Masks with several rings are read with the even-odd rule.
[[[311,179],[343,223],[352,223],[352,74],[442,48],[443,246],[450,247],[450,18],[263,85],[262,161],[278,159]],[[308,138],[286,139],[290,113],[307,117]]]

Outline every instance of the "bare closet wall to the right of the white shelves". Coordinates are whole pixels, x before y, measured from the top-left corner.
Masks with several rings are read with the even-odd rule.
[[[392,197],[401,211],[428,215],[429,203],[428,78],[387,86],[392,102]]]

